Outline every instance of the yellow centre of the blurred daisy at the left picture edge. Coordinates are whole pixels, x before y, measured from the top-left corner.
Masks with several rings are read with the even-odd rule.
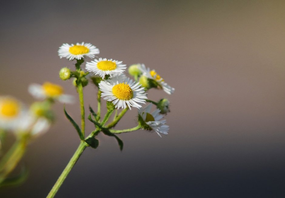
[[[6,99],[1,102],[1,114],[6,117],[15,117],[20,111],[20,104],[13,99]]]

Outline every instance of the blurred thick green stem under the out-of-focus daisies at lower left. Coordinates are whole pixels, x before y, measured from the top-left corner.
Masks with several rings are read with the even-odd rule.
[[[27,137],[18,139],[8,153],[3,157],[0,164],[0,183],[15,169],[18,162],[22,159],[27,146]]]

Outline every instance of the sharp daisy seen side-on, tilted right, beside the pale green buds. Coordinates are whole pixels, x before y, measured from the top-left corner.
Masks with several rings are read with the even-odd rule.
[[[143,72],[143,75],[145,75],[149,79],[155,80],[160,87],[162,87],[163,91],[165,91],[168,94],[174,93],[174,88],[169,86],[163,78],[161,78],[155,70],[150,70],[149,68],[146,68],[144,64],[140,65],[140,69]]]

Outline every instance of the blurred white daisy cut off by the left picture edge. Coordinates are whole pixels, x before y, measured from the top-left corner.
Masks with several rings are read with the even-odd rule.
[[[11,96],[0,96],[0,128],[11,130],[25,118],[27,110],[22,103]]]

